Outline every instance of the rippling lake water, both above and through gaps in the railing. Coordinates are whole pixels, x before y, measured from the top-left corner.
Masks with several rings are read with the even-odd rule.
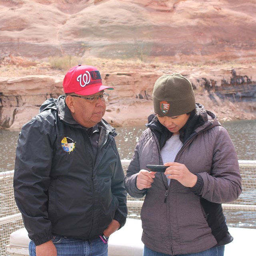
[[[239,160],[256,160],[256,120],[229,121],[222,124],[230,134],[236,148]],[[116,144],[121,159],[131,159],[134,147],[145,126],[118,127],[116,128]],[[15,161],[16,143],[19,130],[0,130],[0,172],[13,170]],[[253,181],[252,181],[253,182]],[[255,189],[255,188],[254,188]],[[248,203],[255,205],[255,192],[245,191],[240,196]],[[249,200],[248,200],[249,198]],[[250,211],[224,211],[229,226],[255,228],[255,214]],[[136,212],[136,217],[139,216]],[[131,216],[130,216],[131,217]]]

